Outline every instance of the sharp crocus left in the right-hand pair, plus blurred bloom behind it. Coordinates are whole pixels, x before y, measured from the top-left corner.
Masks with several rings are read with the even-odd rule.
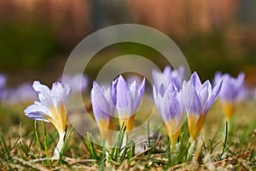
[[[177,137],[183,125],[184,105],[182,101],[182,83],[184,80],[183,67],[178,70],[166,66],[163,72],[152,71],[154,80],[154,104],[164,120],[166,133],[171,139],[171,148],[174,149]]]

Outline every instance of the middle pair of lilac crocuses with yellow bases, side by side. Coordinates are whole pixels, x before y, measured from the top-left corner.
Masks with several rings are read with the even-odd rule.
[[[138,84],[136,81],[128,85],[124,77],[117,77],[110,87],[93,83],[91,104],[100,133],[112,143],[114,129],[114,112],[118,113],[119,127],[125,127],[125,133],[133,128],[135,114],[143,100],[145,78]]]

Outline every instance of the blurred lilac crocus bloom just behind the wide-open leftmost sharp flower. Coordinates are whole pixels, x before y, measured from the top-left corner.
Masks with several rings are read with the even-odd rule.
[[[79,94],[87,88],[89,78],[84,74],[64,75],[62,76],[61,83],[67,83],[74,94]]]

